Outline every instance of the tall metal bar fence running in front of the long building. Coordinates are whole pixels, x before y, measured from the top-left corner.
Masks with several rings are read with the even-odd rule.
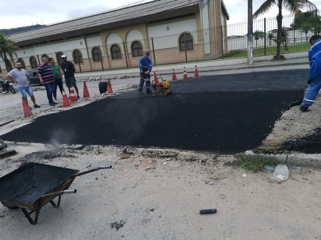
[[[308,27],[296,25],[295,15],[283,16],[282,26],[287,37],[282,42],[281,52],[308,50],[309,38],[315,30],[320,32],[318,13],[307,13],[310,19]],[[315,21],[314,24],[312,21]],[[276,53],[276,17],[254,20],[253,32],[254,56]],[[153,66],[246,57],[247,22],[90,48],[57,49],[56,52],[43,55],[14,58],[14,61],[21,60],[23,67],[30,71],[38,67],[43,56],[52,57],[59,64],[64,54],[74,63],[77,72],[101,71],[137,68],[146,50],[150,51]]]

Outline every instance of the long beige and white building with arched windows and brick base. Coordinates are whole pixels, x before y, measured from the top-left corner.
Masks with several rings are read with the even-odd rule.
[[[223,0],[154,0],[9,35],[20,48],[9,60],[30,71],[66,55],[84,72],[137,67],[146,50],[154,66],[214,59],[227,51],[228,19]]]

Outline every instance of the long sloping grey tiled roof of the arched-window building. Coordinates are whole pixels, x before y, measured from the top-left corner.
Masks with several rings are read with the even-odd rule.
[[[45,27],[11,34],[9,36],[13,41],[22,42],[36,38],[39,39],[48,36],[59,35],[67,32],[80,34],[85,29],[98,28],[100,26],[129,21],[155,13],[197,5],[201,1],[203,0],[154,0],[151,2],[130,5],[81,18],[58,22]]]

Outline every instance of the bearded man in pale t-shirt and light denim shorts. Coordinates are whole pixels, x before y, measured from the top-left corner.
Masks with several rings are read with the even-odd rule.
[[[15,80],[12,77],[14,77]],[[40,106],[36,104],[36,100],[35,100],[35,97],[33,96],[32,88],[30,87],[30,76],[26,70],[22,69],[21,62],[19,61],[16,62],[16,68],[11,70],[8,73],[7,78],[17,84],[18,90],[21,92],[22,97],[24,97],[24,99],[27,101],[27,104],[28,104],[28,100],[27,100],[27,93],[28,93],[29,97],[31,98],[31,101],[33,102],[33,107],[40,108]],[[32,108],[30,108],[30,110],[32,110]]]

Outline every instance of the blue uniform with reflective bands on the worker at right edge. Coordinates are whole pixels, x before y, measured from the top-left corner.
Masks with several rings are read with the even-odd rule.
[[[309,49],[310,71],[307,82],[309,84],[301,106],[308,108],[314,102],[321,89],[321,39],[318,39]]]

